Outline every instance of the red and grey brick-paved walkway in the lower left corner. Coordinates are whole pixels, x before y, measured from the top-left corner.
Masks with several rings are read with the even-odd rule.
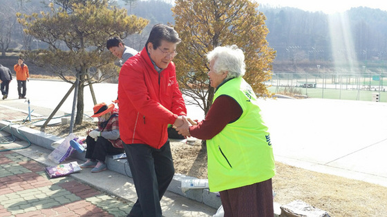
[[[0,152],[0,216],[126,216],[133,204],[74,178],[48,178],[45,166]]]

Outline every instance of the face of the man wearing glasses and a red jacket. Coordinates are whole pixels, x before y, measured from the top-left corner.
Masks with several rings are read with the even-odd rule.
[[[176,44],[169,41],[161,41],[158,48],[153,48],[153,43],[148,43],[148,52],[158,68],[167,68],[173,57],[176,56]]]

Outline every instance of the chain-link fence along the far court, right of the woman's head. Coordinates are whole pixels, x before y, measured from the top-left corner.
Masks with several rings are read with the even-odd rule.
[[[275,73],[269,90],[290,96],[387,102],[387,73]]]

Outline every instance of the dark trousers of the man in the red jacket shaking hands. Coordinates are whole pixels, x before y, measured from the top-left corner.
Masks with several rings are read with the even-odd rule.
[[[138,200],[128,216],[161,217],[160,200],[175,174],[169,141],[160,149],[124,144]]]

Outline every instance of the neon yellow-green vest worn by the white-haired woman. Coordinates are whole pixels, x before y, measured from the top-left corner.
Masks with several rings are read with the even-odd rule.
[[[208,180],[211,192],[260,183],[275,174],[270,134],[261,118],[256,95],[241,77],[218,87],[218,96],[231,96],[243,114],[207,141]]]

